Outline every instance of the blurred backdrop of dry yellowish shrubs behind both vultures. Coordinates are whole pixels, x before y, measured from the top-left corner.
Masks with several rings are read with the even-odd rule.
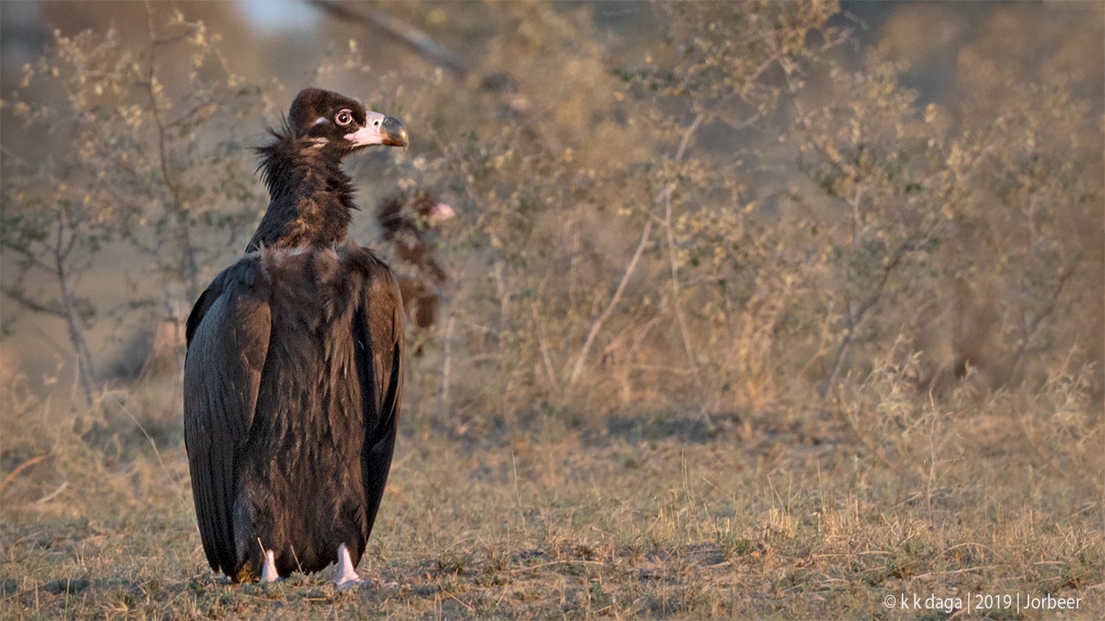
[[[354,239],[397,190],[460,215],[409,420],[824,411],[886,365],[924,401],[1101,401],[1101,4],[0,10],[4,385],[159,444],[182,322],[267,203],[251,148],[308,85],[412,136],[348,160]]]

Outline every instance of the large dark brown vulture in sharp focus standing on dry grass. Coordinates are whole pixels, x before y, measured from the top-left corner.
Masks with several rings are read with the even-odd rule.
[[[391,270],[347,241],[341,159],[407,147],[407,129],[306,88],[257,149],[270,202],[245,255],[185,327],[185,444],[211,568],[276,580],[357,564],[391,467],[403,386],[403,309]]]

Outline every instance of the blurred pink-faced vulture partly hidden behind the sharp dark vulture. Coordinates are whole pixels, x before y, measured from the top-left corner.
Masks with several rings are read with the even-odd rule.
[[[436,243],[429,234],[456,212],[427,190],[417,192],[410,207],[407,203],[401,193],[385,198],[376,206],[376,218],[383,241],[394,246],[396,260],[410,269],[411,275],[398,276],[407,316],[415,329],[425,330],[433,326],[441,286],[445,284],[445,271],[436,259]]]

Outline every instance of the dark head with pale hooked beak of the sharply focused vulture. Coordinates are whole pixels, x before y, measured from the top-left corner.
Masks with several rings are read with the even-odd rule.
[[[304,88],[288,112],[292,136],[343,158],[369,145],[407,148],[398,118],[367,110],[356,99],[322,88]]]

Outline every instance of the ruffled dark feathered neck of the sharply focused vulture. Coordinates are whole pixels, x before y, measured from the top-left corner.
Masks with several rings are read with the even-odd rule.
[[[272,145],[257,149],[270,201],[245,252],[340,242],[349,228],[349,211],[357,209],[340,159],[309,141],[275,136]]]

